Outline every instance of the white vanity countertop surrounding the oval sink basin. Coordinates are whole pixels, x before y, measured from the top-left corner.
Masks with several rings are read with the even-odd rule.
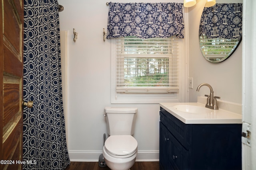
[[[177,105],[205,107],[201,103],[160,103],[160,106],[186,124],[242,124],[242,115],[224,109],[209,109],[208,113],[188,113],[176,110]],[[208,108],[206,108],[208,109]]]

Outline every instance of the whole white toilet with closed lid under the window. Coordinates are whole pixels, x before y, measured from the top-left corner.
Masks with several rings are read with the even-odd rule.
[[[111,170],[129,170],[137,156],[134,134],[136,107],[105,107],[108,139],[103,147],[104,160]]]

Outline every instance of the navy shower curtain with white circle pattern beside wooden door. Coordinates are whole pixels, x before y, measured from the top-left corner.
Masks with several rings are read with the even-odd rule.
[[[64,170],[70,159],[62,102],[57,0],[24,0],[24,170]]]

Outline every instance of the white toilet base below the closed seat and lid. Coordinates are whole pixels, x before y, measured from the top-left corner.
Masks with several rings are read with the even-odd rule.
[[[130,170],[135,163],[137,152],[128,158],[114,158],[103,147],[103,156],[108,168],[111,170]]]

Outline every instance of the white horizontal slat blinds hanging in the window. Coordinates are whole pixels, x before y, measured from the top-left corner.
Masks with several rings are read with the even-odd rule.
[[[171,38],[116,39],[116,92],[178,92],[178,43]]]

